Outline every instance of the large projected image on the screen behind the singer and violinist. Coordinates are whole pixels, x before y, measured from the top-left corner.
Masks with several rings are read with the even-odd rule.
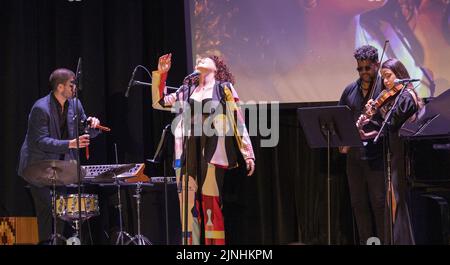
[[[242,100],[337,101],[357,78],[364,44],[399,58],[417,92],[450,87],[449,2],[445,0],[191,0],[192,54],[218,54]]]

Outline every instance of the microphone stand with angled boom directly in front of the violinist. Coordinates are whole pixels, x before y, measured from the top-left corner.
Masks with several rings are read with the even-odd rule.
[[[404,84],[402,89],[400,89],[400,92],[398,93],[398,96],[395,98],[394,104],[392,105],[391,109],[388,111],[388,113],[386,114],[383,124],[380,128],[380,131],[378,132],[377,136],[375,137],[375,139],[373,140],[373,142],[376,144],[379,140],[379,138],[381,137],[381,135],[383,134],[383,132],[386,130],[386,134],[385,137],[383,138],[383,142],[384,142],[384,147],[386,149],[385,151],[385,155],[386,155],[386,196],[387,196],[387,201],[388,201],[388,218],[389,218],[389,222],[388,222],[388,229],[389,229],[389,244],[393,245],[394,244],[394,222],[393,222],[393,213],[392,213],[392,161],[391,161],[391,148],[390,148],[390,139],[389,139],[389,135],[390,135],[390,130],[389,127],[387,125],[391,124],[391,119],[392,119],[392,113],[394,113],[394,111],[397,108],[398,105],[398,100],[401,96],[401,94],[403,93],[403,91],[405,90],[407,84]]]

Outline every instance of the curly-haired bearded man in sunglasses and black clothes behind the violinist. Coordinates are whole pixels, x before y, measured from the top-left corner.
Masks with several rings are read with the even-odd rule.
[[[342,93],[339,105],[347,105],[357,122],[366,112],[365,105],[376,99],[382,90],[378,74],[378,51],[375,47],[364,45],[354,52],[359,78],[349,84]],[[347,155],[347,178],[353,213],[358,227],[359,243],[367,239],[384,239],[385,182],[383,173],[383,145],[375,144],[373,138],[380,129],[382,117],[376,113],[368,124],[359,126],[364,146],[340,147]]]

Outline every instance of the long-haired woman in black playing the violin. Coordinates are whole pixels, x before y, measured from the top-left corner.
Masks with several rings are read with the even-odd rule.
[[[411,84],[403,87],[403,84],[395,83],[395,79],[410,78],[402,62],[397,59],[389,59],[382,64],[380,72],[384,90],[375,100],[368,101],[366,111],[358,119],[357,126],[362,127],[368,124],[374,113],[379,112],[384,119],[389,112],[392,112],[387,125],[388,137],[385,137],[392,161],[392,198],[389,202],[392,213],[390,215],[392,220],[389,220],[392,222],[392,242],[400,245],[414,244],[407,204],[405,150],[404,143],[399,137],[399,130],[407,120],[415,119],[415,113],[422,105],[422,101]],[[369,134],[376,135],[378,131],[371,131]]]

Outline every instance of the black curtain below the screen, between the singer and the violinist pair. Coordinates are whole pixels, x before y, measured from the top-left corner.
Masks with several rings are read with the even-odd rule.
[[[296,107],[328,104],[299,104]],[[227,175],[225,223],[228,240],[235,244],[327,243],[327,153],[309,148],[297,119],[296,107],[280,110],[280,135],[276,147],[263,148],[260,146],[263,137],[252,137],[257,165],[254,176],[245,177],[242,168]],[[269,124],[274,126],[273,121]],[[345,157],[332,150],[333,244],[355,242],[344,170]]]

